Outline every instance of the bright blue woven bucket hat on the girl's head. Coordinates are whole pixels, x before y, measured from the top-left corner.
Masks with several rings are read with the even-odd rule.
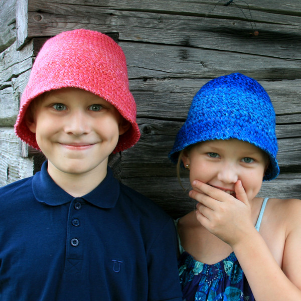
[[[194,96],[169,158],[177,163],[181,150],[201,141],[236,138],[269,156],[263,180],[272,180],[279,174],[275,123],[271,100],[256,80],[240,73],[221,76]]]

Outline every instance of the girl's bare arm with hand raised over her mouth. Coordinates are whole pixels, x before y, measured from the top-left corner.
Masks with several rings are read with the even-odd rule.
[[[236,198],[206,185],[193,183],[190,196],[197,200],[197,219],[211,233],[228,243],[250,284],[256,301],[301,301],[301,205],[289,200],[282,269],[256,231],[251,208],[240,181]],[[287,205],[288,205],[287,204]]]

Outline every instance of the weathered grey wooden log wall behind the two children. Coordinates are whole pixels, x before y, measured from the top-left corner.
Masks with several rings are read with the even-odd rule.
[[[86,28],[111,35],[127,59],[141,139],[111,158],[123,183],[155,200],[173,217],[191,210],[194,202],[180,187],[168,152],[198,89],[211,78],[241,72],[263,85],[277,114],[281,174],[264,183],[260,195],[301,198],[301,2],[225,4],[2,0],[0,185],[30,176],[40,167],[41,155],[21,143],[13,130],[20,94],[37,52],[50,36]]]

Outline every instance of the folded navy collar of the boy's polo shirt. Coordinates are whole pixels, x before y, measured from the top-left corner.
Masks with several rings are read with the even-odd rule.
[[[41,172],[36,173],[33,177],[35,198],[50,206],[60,206],[75,199],[52,180],[47,172],[47,167],[46,161],[42,165]],[[119,192],[119,182],[113,177],[113,172],[108,167],[103,181],[94,190],[76,199],[84,199],[100,208],[113,208],[118,200]]]

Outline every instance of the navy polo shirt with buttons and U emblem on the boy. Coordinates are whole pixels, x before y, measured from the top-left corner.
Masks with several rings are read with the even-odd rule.
[[[0,198],[0,300],[182,300],[172,219],[109,168],[74,198],[46,162]]]

